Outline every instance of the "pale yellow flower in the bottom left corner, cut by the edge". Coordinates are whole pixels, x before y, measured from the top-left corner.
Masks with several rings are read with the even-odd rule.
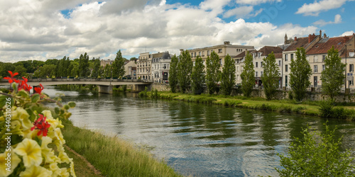
[[[9,157],[7,156],[8,154],[11,154],[10,160],[11,161],[11,167],[9,167],[7,164]],[[0,176],[9,176],[14,169],[16,169],[17,165],[21,162],[21,159],[18,158],[18,156],[13,152],[13,149],[11,148],[10,152],[4,152],[0,154]],[[7,168],[10,168],[9,171],[6,170]]]

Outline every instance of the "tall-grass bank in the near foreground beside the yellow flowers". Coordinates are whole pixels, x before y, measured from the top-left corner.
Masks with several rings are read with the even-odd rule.
[[[67,146],[84,156],[103,176],[180,176],[129,142],[75,127],[69,121],[63,121],[63,125]]]

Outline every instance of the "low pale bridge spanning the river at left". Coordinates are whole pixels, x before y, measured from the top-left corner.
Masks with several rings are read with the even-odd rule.
[[[114,86],[132,85],[132,91],[143,91],[153,81],[141,79],[28,79],[31,86],[56,86],[56,85],[97,85],[99,93],[111,94]],[[0,86],[9,85],[5,79],[1,79]]]

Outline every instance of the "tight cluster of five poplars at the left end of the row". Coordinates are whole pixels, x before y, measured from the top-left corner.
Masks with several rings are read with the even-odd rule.
[[[214,51],[207,57],[206,64],[200,56],[197,56],[193,64],[187,50],[181,53],[179,59],[174,55],[170,62],[169,84],[173,93],[177,91],[178,86],[182,93],[191,87],[192,93],[201,94],[204,86],[209,94],[218,93],[220,83],[222,94],[230,95],[235,80],[236,68],[229,55],[224,58],[222,71],[219,56]]]

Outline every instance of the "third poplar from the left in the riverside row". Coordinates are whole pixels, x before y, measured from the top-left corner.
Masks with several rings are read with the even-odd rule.
[[[204,84],[204,64],[200,56],[195,60],[195,67],[192,68],[191,89],[194,94],[201,94]]]

